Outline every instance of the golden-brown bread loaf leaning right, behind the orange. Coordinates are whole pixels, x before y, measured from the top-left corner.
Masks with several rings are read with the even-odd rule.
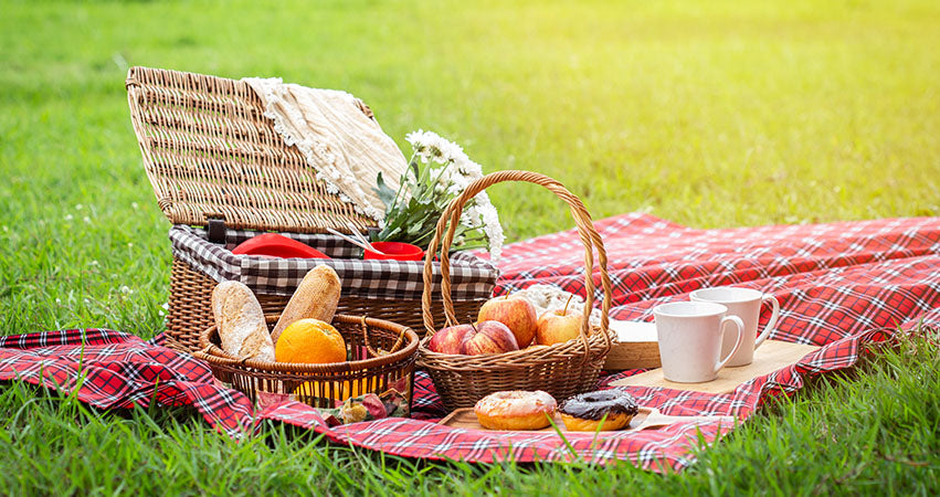
[[[277,338],[281,337],[284,328],[299,319],[332,321],[336,306],[339,305],[339,276],[332,267],[320,264],[310,269],[297,286],[284,313],[281,314],[281,318],[271,332],[272,340],[277,343]]]

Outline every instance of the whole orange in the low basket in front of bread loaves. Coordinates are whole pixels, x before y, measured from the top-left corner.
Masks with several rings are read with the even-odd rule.
[[[329,322],[299,319],[284,329],[274,346],[277,362],[325,364],[346,360],[346,341]]]

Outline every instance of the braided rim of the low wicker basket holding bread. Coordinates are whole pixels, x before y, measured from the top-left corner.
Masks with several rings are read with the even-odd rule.
[[[277,321],[279,315],[266,315],[265,320],[267,324],[273,324]],[[371,368],[381,368],[389,364],[394,364],[404,360],[408,360],[410,357],[414,356],[418,350],[419,339],[418,334],[414,332],[413,329],[406,326],[398,325],[392,321],[387,321],[384,319],[376,319],[366,316],[348,316],[338,314],[334,316],[334,321],[340,321],[347,325],[355,325],[365,322],[369,328],[384,328],[390,331],[398,331],[400,334],[404,334],[404,338],[408,340],[408,343],[401,349],[380,357],[369,358],[369,359],[360,359],[357,361],[342,361],[335,362],[329,364],[308,364],[308,363],[298,363],[298,362],[272,362],[272,361],[262,361],[256,359],[239,359],[233,357],[232,355],[225,352],[221,348],[216,347],[211,342],[211,338],[213,334],[215,334],[215,325],[210,326],[205,330],[203,330],[199,336],[199,345],[202,350],[198,350],[193,352],[193,356],[202,359],[207,362],[216,363],[216,364],[242,364],[249,368],[257,369],[262,372],[274,372],[274,373],[318,373],[318,374],[327,374],[327,373],[341,373],[341,372],[350,372],[350,371],[359,371],[363,369]]]

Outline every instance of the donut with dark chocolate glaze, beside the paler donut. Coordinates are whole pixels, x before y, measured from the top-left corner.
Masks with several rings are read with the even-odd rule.
[[[593,432],[626,427],[640,408],[629,393],[612,389],[574,395],[562,402],[558,412],[569,431]]]

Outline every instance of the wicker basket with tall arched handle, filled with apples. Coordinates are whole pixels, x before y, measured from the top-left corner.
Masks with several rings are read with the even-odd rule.
[[[431,311],[431,287],[426,285],[433,275],[431,256],[443,235],[442,253],[446,254],[454,237],[455,224],[460,220],[464,204],[486,188],[504,181],[524,181],[542,186],[566,201],[584,244],[584,288],[587,299],[579,339],[551,346],[532,346],[511,352],[485,356],[462,356],[433,352],[427,342],[435,331],[434,315]],[[444,228],[450,228],[444,234]],[[601,306],[601,325],[591,327],[590,315],[594,304],[595,283],[593,250],[598,251],[600,283],[604,298]],[[473,406],[476,401],[489,393],[501,390],[543,390],[559,401],[568,396],[593,390],[598,382],[604,359],[611,349],[608,314],[611,308],[611,281],[608,275],[608,256],[601,235],[594,230],[591,214],[581,199],[569,192],[560,182],[528,171],[499,171],[487,175],[473,183],[447,207],[437,222],[437,231],[427,248],[424,261],[424,294],[422,316],[427,335],[419,347],[418,364],[427,370],[434,387],[448,410]],[[442,257],[444,279],[441,288],[446,321],[444,326],[457,325],[461,319],[454,311],[450,298],[448,264]],[[466,322],[466,321],[464,321]]]

